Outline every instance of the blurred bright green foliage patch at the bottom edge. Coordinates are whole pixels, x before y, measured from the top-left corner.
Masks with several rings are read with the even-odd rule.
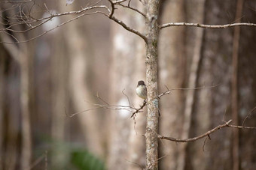
[[[72,164],[81,170],[104,170],[104,163],[87,150],[71,152]]]

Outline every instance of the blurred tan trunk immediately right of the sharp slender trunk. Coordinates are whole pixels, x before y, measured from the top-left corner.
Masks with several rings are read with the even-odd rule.
[[[162,22],[182,22],[185,19],[184,1],[164,1]],[[184,85],[185,63],[185,28],[163,29],[159,41],[159,78],[160,92],[169,88],[181,88]],[[181,69],[182,68],[182,69]],[[160,100],[160,134],[181,138],[181,124],[184,112],[184,91],[173,91]],[[161,145],[163,142],[163,145]],[[175,142],[160,142],[161,169],[177,169],[178,147]]]

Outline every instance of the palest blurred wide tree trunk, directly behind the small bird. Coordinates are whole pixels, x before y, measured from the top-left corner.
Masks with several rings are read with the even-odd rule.
[[[128,10],[116,10],[116,12],[118,19],[136,28],[136,22],[134,22],[136,16],[134,16],[134,13],[127,14]],[[111,32],[113,38],[113,52],[111,58],[111,103],[118,106],[129,106],[129,102],[126,96],[122,94],[122,91],[125,89],[123,92],[129,97],[131,104],[133,104],[134,101],[132,99],[134,98],[138,82],[135,76],[139,75],[139,73],[136,73],[136,67],[138,66],[136,62],[138,62],[137,57],[139,56],[136,47],[139,38],[127,32],[116,23],[113,23]],[[139,70],[142,69],[141,67],[142,66],[139,66]],[[143,79],[143,77],[140,79]],[[109,124],[111,139],[109,141],[108,169],[126,169],[127,166],[130,167],[129,169],[133,169],[133,166],[130,165],[133,163],[130,162],[133,162],[134,159],[138,159],[139,153],[143,148],[140,148],[138,153],[129,152],[129,150],[132,149],[130,146],[135,142],[133,141],[135,134],[131,133],[131,131],[134,130],[134,128],[131,129],[131,127],[134,126],[134,122],[133,119],[130,118],[130,112],[125,110],[111,111]],[[140,128],[141,127],[139,127],[139,129]],[[142,131],[139,130],[139,133],[141,132]],[[139,134],[136,138],[140,138]],[[133,156],[135,158],[133,158]],[[127,157],[131,160],[127,160]]]

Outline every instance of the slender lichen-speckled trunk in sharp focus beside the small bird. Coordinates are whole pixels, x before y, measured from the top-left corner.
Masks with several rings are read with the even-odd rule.
[[[148,1],[147,8],[147,42],[146,42],[146,82],[147,98],[147,127],[146,127],[146,169],[158,169],[158,89],[157,89],[157,41],[158,41],[158,12],[157,0]]]

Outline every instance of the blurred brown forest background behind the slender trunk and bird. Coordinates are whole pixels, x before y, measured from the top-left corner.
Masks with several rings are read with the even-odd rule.
[[[63,13],[96,2],[35,1],[26,7],[34,5],[40,18],[47,10]],[[143,1],[131,4],[144,10]],[[14,5],[0,3],[1,28]],[[145,29],[138,13],[119,7],[114,15]],[[26,41],[72,18],[53,18],[22,34],[1,31],[0,39]],[[256,1],[166,0],[159,20],[256,23]],[[187,139],[230,119],[255,127],[255,46],[255,27],[161,30],[158,91],[172,91],[160,99],[159,133]],[[0,169],[145,168],[146,109],[130,118],[131,112],[108,106],[142,106],[135,93],[145,80],[142,39],[90,14],[26,43],[0,43],[0,55]],[[158,163],[160,169],[253,169],[255,145],[255,130],[232,128],[191,143],[161,139]]]

